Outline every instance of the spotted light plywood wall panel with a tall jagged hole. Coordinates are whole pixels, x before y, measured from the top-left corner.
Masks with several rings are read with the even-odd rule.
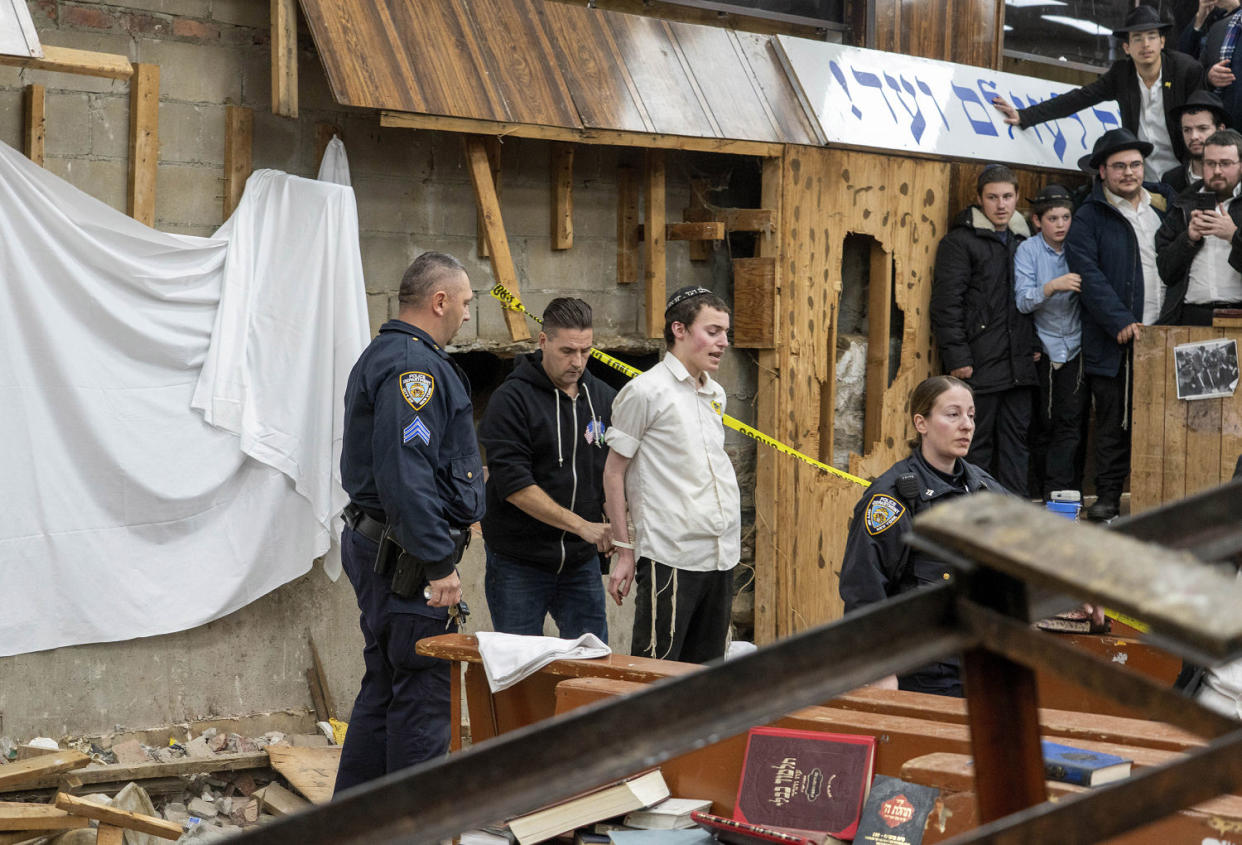
[[[848,232],[871,235],[895,262],[894,298],[904,313],[897,378],[879,403],[881,436],[851,471],[878,475],[908,454],[905,405],[928,374],[935,245],[948,220],[949,165],[847,150],[786,148],[779,229],[781,254],[776,352],[760,360],[760,419],[774,436],[815,455],[828,442],[836,381],[835,326],[841,255]],[[765,199],[765,206],[768,200]],[[766,362],[766,365],[765,365]],[[863,490],[787,460],[760,455],[760,485],[781,496],[756,517],[756,636],[786,636],[842,613],[837,578],[850,518]],[[756,501],[760,496],[756,487]],[[764,555],[773,555],[771,584]]]

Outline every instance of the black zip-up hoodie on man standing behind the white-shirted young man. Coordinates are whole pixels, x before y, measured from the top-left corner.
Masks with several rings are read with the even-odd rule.
[[[543,352],[522,355],[483,411],[478,440],[487,451],[483,541],[508,558],[548,572],[569,572],[597,549],[578,534],[535,519],[507,497],[538,485],[587,522],[604,521],[604,431],[616,390],[589,370],[578,398],[559,390],[543,369]]]

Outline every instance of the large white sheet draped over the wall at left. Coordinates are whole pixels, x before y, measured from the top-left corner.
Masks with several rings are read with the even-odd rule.
[[[168,235],[0,144],[0,656],[304,573],[345,501],[365,308],[348,188],[258,171],[214,237]]]

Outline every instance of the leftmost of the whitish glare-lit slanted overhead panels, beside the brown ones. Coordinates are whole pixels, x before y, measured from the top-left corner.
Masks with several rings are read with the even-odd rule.
[[[607,12],[609,31],[656,132],[719,137],[698,84],[686,72],[668,25],[655,17]]]

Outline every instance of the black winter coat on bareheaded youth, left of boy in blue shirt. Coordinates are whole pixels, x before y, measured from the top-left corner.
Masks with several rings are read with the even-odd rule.
[[[975,393],[997,393],[1033,385],[1040,339],[1030,314],[1013,296],[1013,252],[1030,234],[1022,215],[1010,219],[1002,241],[971,205],[940,240],[932,281],[932,332],[946,373],[972,367]]]

